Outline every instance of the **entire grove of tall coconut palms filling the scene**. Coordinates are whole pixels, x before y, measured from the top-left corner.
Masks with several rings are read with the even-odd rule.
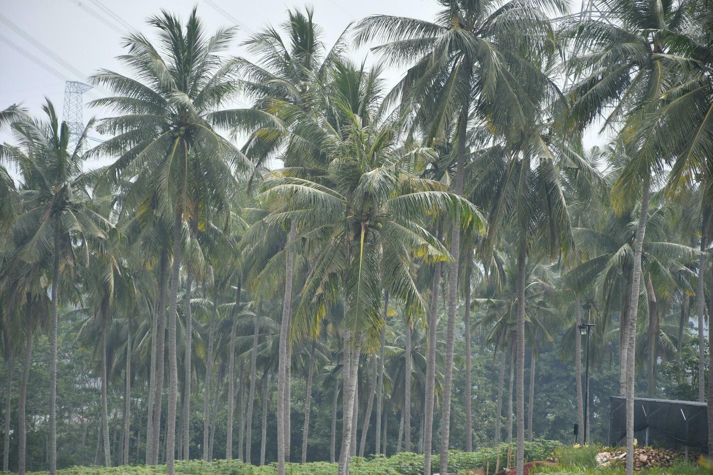
[[[635,382],[706,397],[713,1],[598,3],[605,19],[553,21],[566,1],[439,0],[434,19],[370,16],[332,46],[310,9],[245,40],[162,11],[124,38],[125,74],[92,76],[112,113],[78,140],[49,101],[42,118],[2,111],[4,469],[90,463],[98,420],[95,463],[173,474],[237,445],[284,474],[299,404],[302,461],[312,425],[339,474],[403,448],[428,475],[434,446],[445,474],[448,447],[493,425],[501,441],[509,361],[520,474],[526,349],[529,436],[553,345],[583,427],[587,320],[593,360],[619,365],[630,472]],[[230,55],[240,41],[255,61]],[[387,89],[349,44],[405,74]],[[584,150],[590,126],[610,142]],[[108,138],[86,150],[90,130]],[[87,172],[93,157],[111,165]],[[660,375],[684,354],[689,378]]]

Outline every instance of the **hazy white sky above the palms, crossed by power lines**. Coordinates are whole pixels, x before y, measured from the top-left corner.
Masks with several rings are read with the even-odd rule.
[[[324,28],[327,44],[333,43],[350,21],[367,15],[395,14],[432,19],[438,9],[432,0],[173,0],[170,3],[156,0],[0,0],[0,61],[5,65],[0,74],[0,108],[24,103],[32,113],[39,113],[39,106],[47,96],[61,110],[65,80],[86,80],[87,75],[99,68],[120,70],[115,59],[123,53],[120,38],[130,28],[151,33],[145,19],[158,14],[162,8],[185,18],[190,9],[198,5],[198,13],[207,31],[237,23],[240,32],[230,53],[243,55],[245,51],[239,46],[240,41],[267,24],[279,26],[286,18],[287,9],[301,9],[305,4],[314,7],[315,21]],[[368,62],[374,60],[366,48],[352,52],[352,57],[356,61],[364,57]],[[396,82],[401,73],[402,69],[391,69],[389,81]],[[93,90],[84,98],[87,102],[98,95],[101,91]],[[84,119],[92,115],[101,117],[102,113],[85,108]],[[6,139],[6,135],[0,135],[0,140]],[[588,140],[596,141],[596,137]]]

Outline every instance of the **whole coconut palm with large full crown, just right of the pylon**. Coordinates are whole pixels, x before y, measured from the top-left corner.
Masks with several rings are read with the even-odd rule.
[[[178,395],[175,323],[184,216],[229,209],[237,189],[235,172],[249,165],[240,150],[214,129],[235,125],[244,113],[221,110],[238,91],[238,62],[222,56],[235,38],[235,28],[220,28],[209,36],[196,9],[185,26],[168,11],[151,17],[148,24],[158,31],[158,47],[141,33],[124,39],[128,53],[120,61],[135,71],[135,78],[107,70],[93,75],[94,83],[116,94],[93,105],[119,113],[101,120],[98,130],[114,137],[94,152],[118,156],[104,172],[105,177],[120,176],[133,182],[124,198],[125,207],[131,209],[155,199],[161,216],[171,223],[166,454],[168,473],[173,474]],[[203,202],[200,208],[190,206],[196,190],[200,190]],[[152,447],[153,463],[158,459],[157,448]]]

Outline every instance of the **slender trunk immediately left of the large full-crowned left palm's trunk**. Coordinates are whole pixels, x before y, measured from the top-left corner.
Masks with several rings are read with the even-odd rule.
[[[151,465],[158,465],[159,439],[161,435],[161,412],[163,406],[163,376],[165,373],[165,345],[166,345],[166,288],[168,288],[168,249],[163,249],[164,266],[161,269],[163,279],[159,289],[158,299],[158,332],[156,333],[156,375],[153,395],[153,422],[151,434]]]

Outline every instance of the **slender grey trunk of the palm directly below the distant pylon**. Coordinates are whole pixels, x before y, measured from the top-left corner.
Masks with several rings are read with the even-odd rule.
[[[57,325],[59,307],[60,219],[54,216],[54,263],[52,267],[52,315],[49,334],[49,473],[57,472]]]

